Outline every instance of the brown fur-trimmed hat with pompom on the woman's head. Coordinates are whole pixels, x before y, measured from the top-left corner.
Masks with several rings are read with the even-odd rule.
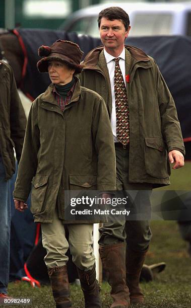
[[[48,61],[58,60],[76,69],[76,73],[81,72],[82,65],[80,65],[84,52],[80,47],[71,41],[57,40],[50,47],[40,46],[38,48],[38,55],[42,57],[37,62],[37,68],[40,72],[48,71]]]

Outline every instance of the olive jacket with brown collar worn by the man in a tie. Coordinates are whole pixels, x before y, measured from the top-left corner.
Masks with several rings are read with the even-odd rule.
[[[111,116],[112,100],[103,46],[90,51],[84,61],[82,86],[99,93]],[[185,153],[173,98],[154,59],[141,49],[125,46],[125,75],[130,108],[129,182],[170,184],[168,152]],[[127,77],[127,80],[129,79]]]

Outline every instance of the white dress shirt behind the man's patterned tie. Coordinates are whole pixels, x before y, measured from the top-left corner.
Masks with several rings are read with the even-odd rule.
[[[114,90],[114,71],[115,71],[115,57],[110,55],[105,49],[104,49],[104,56],[107,63],[107,68],[109,71],[109,78],[110,78],[110,85],[111,85],[111,96],[112,96],[112,112],[111,112],[111,128],[113,132],[113,138],[114,142],[118,142],[116,138],[116,110],[115,110],[115,90]],[[123,48],[121,54],[118,56],[120,58],[119,60],[119,66],[122,72],[124,84],[126,86],[125,82],[125,49]]]

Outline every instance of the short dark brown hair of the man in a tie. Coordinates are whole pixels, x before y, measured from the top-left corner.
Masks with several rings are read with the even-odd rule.
[[[99,13],[98,20],[97,20],[99,28],[100,28],[102,17],[108,20],[114,20],[114,19],[121,20],[121,22],[123,23],[125,27],[125,31],[127,31],[129,28],[129,25],[130,25],[129,15],[123,9],[119,7],[106,8]]]

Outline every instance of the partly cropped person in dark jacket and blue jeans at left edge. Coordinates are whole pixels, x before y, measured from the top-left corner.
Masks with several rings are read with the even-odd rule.
[[[0,301],[3,301],[9,298],[10,179],[15,172],[14,148],[19,162],[26,126],[26,117],[12,68],[3,61],[0,61],[0,107]]]

